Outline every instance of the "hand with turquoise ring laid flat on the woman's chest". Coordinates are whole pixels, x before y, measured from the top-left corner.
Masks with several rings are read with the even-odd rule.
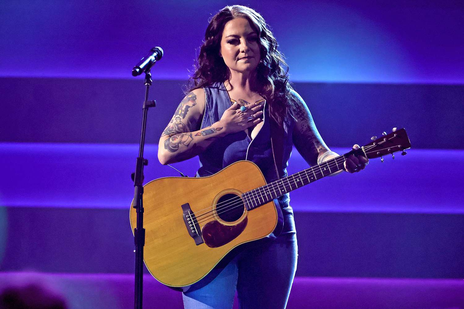
[[[262,121],[263,107],[264,104],[256,102],[248,105],[245,112],[242,112],[240,110],[240,105],[234,103],[222,114],[219,122],[222,124],[227,134],[244,131]]]

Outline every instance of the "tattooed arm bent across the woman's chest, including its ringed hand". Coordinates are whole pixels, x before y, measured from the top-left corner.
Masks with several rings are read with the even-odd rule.
[[[179,104],[173,118],[161,134],[158,144],[158,159],[161,164],[170,164],[193,158],[203,152],[214,140],[229,133],[243,131],[258,124],[261,119],[260,105],[246,113],[237,112],[238,104],[229,107],[221,119],[212,126],[197,130],[205,112],[205,92],[192,90]],[[253,121],[246,117],[254,115]]]

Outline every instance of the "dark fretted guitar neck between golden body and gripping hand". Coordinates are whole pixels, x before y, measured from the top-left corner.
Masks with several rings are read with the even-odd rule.
[[[348,156],[351,154],[359,155],[363,153],[364,150],[362,148],[359,150],[352,150],[341,156],[312,166],[306,170],[302,170],[272,183],[268,183],[262,187],[245,192],[242,196],[246,201],[246,208],[248,210],[257,208],[290,191],[342,170],[343,163]]]

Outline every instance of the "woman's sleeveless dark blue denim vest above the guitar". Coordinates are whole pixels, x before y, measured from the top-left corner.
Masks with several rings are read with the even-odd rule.
[[[219,121],[227,108],[231,107],[231,99],[222,82],[216,82],[209,87],[205,87],[206,104],[205,113],[201,122],[201,129],[212,126]],[[200,153],[200,169],[197,177],[213,175],[230,164],[248,160],[256,165],[263,172],[267,183],[287,176],[288,159],[290,158],[293,143],[292,130],[294,121],[289,121],[291,117],[284,118],[282,154],[275,156],[272,151],[271,126],[269,119],[269,104],[264,102],[263,126],[256,137],[251,140],[245,131],[232,133],[221,139],[215,140],[205,151]],[[274,132],[273,132],[274,133]],[[275,162],[274,158],[282,158],[281,162]],[[279,160],[280,161],[280,160]],[[290,196],[287,193],[279,197],[282,207],[288,205]]]

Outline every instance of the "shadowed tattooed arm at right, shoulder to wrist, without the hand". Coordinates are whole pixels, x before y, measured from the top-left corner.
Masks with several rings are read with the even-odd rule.
[[[296,125],[293,130],[293,144],[296,150],[298,150],[309,165],[316,165],[318,163],[318,158],[323,158],[322,161],[326,161],[329,158],[336,157],[335,152],[333,154],[327,153],[330,149],[325,145],[321,135],[317,131],[313,117],[306,103],[303,101],[303,98],[296,92],[293,92],[293,95],[299,103],[299,108],[294,115],[296,118]],[[325,153],[327,154],[324,155]]]

